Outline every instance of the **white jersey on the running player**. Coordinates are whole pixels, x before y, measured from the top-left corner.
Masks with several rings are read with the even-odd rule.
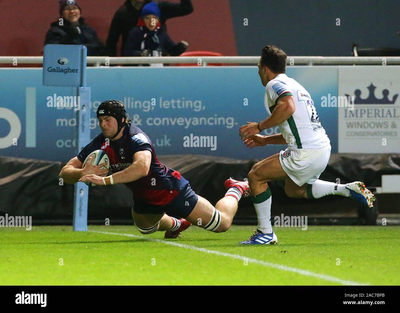
[[[266,86],[267,111],[271,114],[278,102],[285,96],[293,96],[296,111],[288,120],[279,125],[280,132],[288,147],[318,149],[328,146],[330,140],[319,118],[310,94],[293,78],[279,74]]]

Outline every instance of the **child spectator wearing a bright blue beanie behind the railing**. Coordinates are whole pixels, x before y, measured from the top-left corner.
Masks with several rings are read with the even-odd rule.
[[[155,2],[146,4],[138,26],[134,27],[126,39],[125,56],[163,56],[170,54],[178,56],[188,47],[188,43],[182,40],[175,44],[168,34],[160,29],[160,9]]]

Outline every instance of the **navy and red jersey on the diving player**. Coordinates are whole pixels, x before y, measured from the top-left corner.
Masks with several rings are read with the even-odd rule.
[[[106,144],[103,134],[98,135],[78,154],[79,161],[83,163],[95,150],[107,152],[113,173],[129,167],[136,152],[143,150],[151,152],[150,170],[147,176],[124,184],[132,191],[135,202],[166,205],[178,195],[180,173],[158,161],[150,138],[131,123],[125,126],[122,137],[114,141],[109,140],[109,145]]]

